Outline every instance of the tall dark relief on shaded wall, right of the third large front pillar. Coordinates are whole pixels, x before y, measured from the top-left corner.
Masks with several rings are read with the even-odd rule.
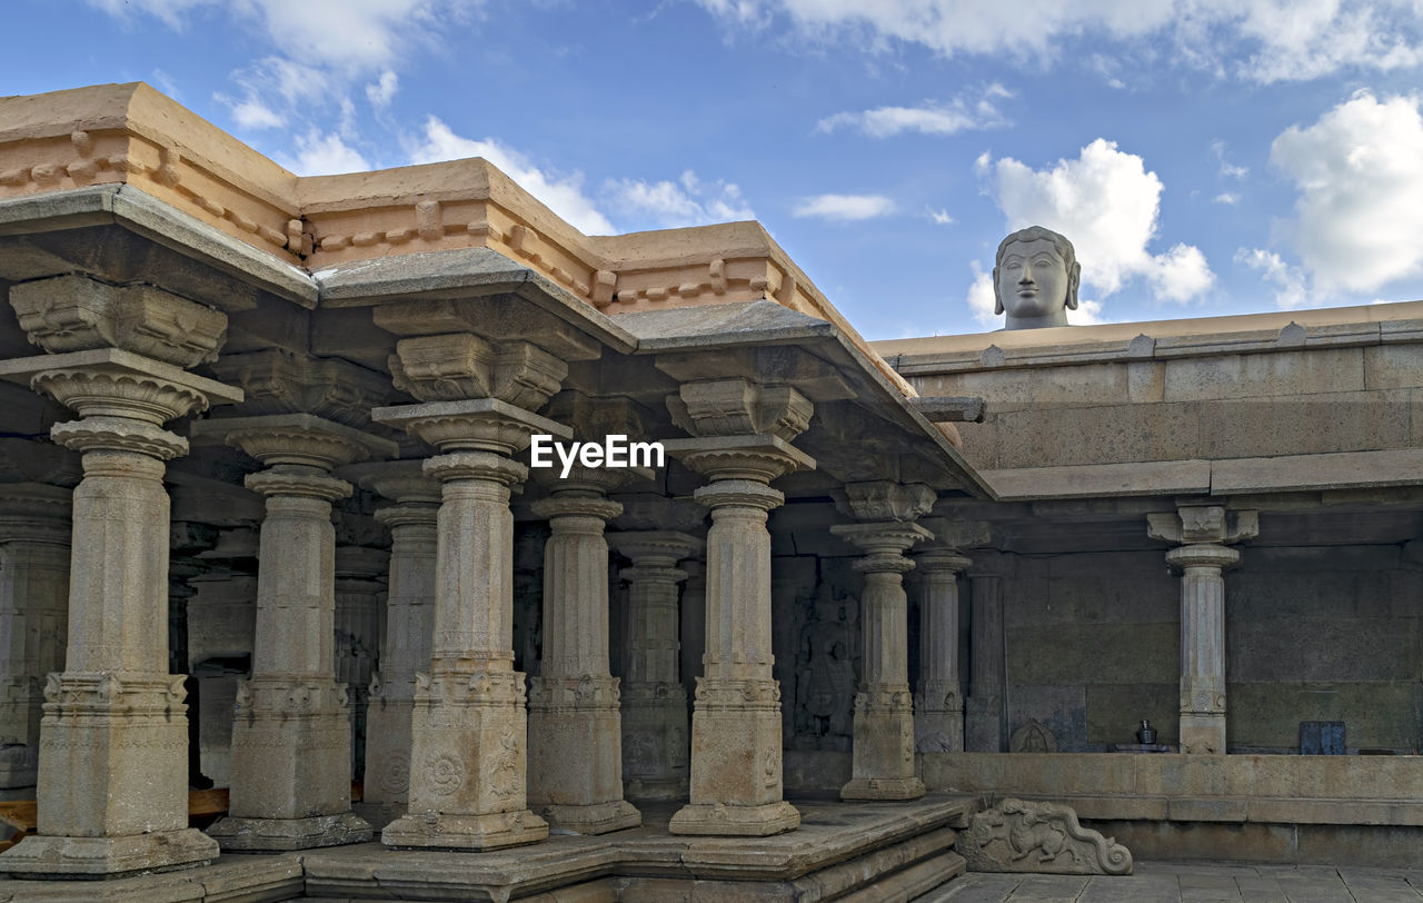
[[[821,581],[797,600],[794,749],[850,749],[858,685],[859,600]]]

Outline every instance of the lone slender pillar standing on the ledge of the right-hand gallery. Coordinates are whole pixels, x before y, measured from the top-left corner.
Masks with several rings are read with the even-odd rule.
[[[1181,504],[1148,514],[1147,534],[1181,543],[1165,561],[1181,574],[1181,752],[1225,753],[1225,577],[1241,554],[1225,543],[1259,533],[1255,511]]]

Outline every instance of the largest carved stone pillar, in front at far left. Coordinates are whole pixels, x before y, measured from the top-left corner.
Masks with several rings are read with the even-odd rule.
[[[164,461],[188,452],[162,429],[242,393],[182,367],[216,355],[226,316],[138,285],[84,276],[16,285],[20,326],[48,355],[0,362],[73,409],[51,437],[83,454],[73,496],[65,667],[44,689],[38,835],[0,872],[111,876],[206,862],[188,828],[188,722],[168,672]]]

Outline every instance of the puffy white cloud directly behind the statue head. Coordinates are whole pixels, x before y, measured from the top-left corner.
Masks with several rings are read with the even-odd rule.
[[[1097,138],[1077,160],[1033,169],[1010,157],[979,157],[975,169],[990,178],[1007,229],[1042,225],[1072,241],[1081,281],[1106,298],[1133,278],[1146,278],[1157,298],[1191,301],[1215,276],[1200,248],[1178,244],[1153,255],[1161,179],[1136,154]]]

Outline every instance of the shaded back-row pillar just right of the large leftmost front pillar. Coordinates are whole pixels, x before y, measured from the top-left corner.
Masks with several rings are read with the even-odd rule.
[[[246,487],[266,496],[252,678],[238,688],[223,849],[295,850],[370,839],[351,813],[351,728],[336,679],[336,528],[332,501],[351,486],[333,467],[394,454],[396,443],[305,413],[209,420],[265,464]]]

